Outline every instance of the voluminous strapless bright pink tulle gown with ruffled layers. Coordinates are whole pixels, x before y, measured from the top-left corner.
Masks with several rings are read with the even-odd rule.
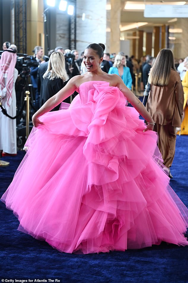
[[[40,117],[1,198],[18,229],[67,253],[187,245],[187,208],[169,186],[156,133],[143,133],[138,112],[108,82],[78,92],[68,109]]]

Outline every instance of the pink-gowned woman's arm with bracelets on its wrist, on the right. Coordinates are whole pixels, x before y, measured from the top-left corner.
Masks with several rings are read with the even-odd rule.
[[[154,122],[152,116],[148,113],[145,106],[141,103],[141,101],[133,94],[133,92],[125,86],[122,79],[116,76],[117,87],[121,90],[121,92],[125,95],[127,100],[132,104],[132,106],[138,111],[138,113],[147,121]],[[153,130],[153,125],[148,124],[147,128],[144,131]]]

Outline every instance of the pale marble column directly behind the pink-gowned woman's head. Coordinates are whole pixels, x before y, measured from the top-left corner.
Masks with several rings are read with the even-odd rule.
[[[77,0],[76,49],[81,53],[90,43],[106,45],[106,0]]]

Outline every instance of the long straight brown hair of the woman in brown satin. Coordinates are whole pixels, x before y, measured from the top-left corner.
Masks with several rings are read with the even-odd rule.
[[[161,49],[151,69],[149,83],[154,86],[167,86],[170,80],[171,69],[174,71],[174,56],[170,49]]]

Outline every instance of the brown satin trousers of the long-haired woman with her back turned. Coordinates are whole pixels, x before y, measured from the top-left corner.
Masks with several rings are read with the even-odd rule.
[[[176,147],[176,127],[172,125],[155,124],[155,132],[159,135],[158,147],[166,167],[171,167]]]

